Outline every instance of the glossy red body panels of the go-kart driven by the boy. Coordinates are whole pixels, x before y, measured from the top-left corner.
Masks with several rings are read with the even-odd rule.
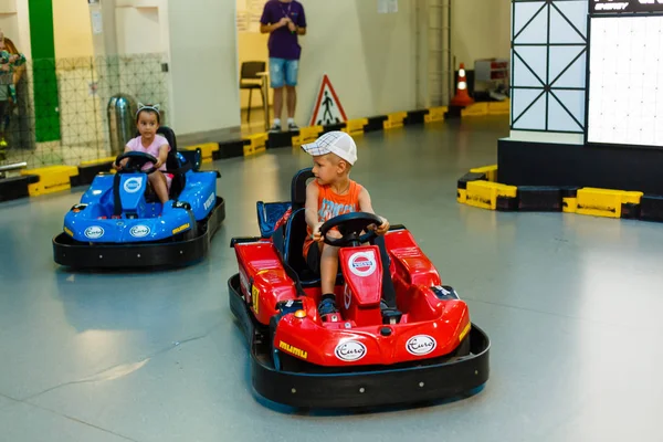
[[[390,231],[385,242],[402,312],[398,324],[382,324],[377,245],[339,249],[345,280],[336,287],[340,312],[323,322],[317,314],[319,287],[306,288],[306,296],[299,296],[270,239],[235,244],[241,291],[259,323],[269,325],[280,302],[303,302],[304,312],[280,319],[274,348],[326,367],[389,366],[453,352],[471,328],[467,305],[436,296],[432,287],[441,286],[440,275],[409,231]]]

